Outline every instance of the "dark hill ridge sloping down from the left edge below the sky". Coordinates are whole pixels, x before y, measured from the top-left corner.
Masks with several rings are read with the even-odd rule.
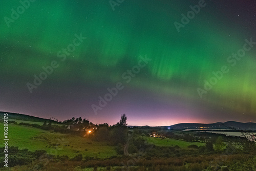
[[[1,118],[4,118],[4,114],[8,113],[8,119],[17,119],[17,120],[26,120],[26,121],[32,121],[32,122],[49,122],[53,120],[50,119],[44,119],[44,118],[39,118],[35,116],[30,116],[30,115],[24,115],[24,114],[17,114],[17,113],[10,113],[10,112],[0,112]]]

